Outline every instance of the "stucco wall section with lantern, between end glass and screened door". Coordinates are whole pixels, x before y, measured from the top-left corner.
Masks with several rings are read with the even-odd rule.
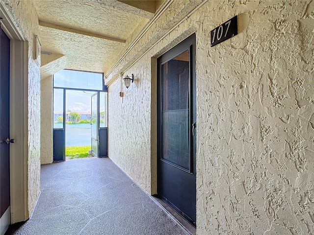
[[[127,89],[116,80],[108,89],[108,156],[147,192],[151,192],[151,69],[149,56],[128,72],[134,82]],[[144,66],[144,67],[143,67]],[[127,75],[125,73],[124,75]],[[119,92],[124,93],[123,97]],[[136,117],[136,118],[133,118]]]

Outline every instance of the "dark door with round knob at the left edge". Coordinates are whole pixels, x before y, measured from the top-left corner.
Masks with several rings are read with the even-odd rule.
[[[10,39],[0,29],[0,235],[10,225]],[[13,142],[13,140],[11,140]]]

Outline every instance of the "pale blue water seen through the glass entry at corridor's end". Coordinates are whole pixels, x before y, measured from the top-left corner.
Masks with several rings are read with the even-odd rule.
[[[62,127],[62,124],[54,124],[54,128]],[[87,146],[91,145],[91,125],[67,124],[65,129],[65,146]]]

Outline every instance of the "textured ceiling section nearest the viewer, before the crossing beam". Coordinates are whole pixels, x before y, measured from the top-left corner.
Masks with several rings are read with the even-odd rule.
[[[125,6],[126,9],[120,9],[117,6],[112,7],[112,4],[118,4],[119,2],[110,1],[45,0],[36,1],[35,4],[39,12],[38,17],[42,21],[49,23],[59,22],[59,25],[84,31],[89,31],[92,28],[93,33],[113,38],[119,35],[119,39],[126,40],[133,28],[141,20],[141,17],[131,14],[131,12],[128,13],[129,7],[127,5]],[[66,9],[67,14],[59,14],[60,6]],[[121,25],[117,27],[116,24],[112,24],[112,19],[119,19]],[[105,32],[104,25],[106,25]],[[130,26],[126,27],[125,25]],[[121,27],[124,30],[121,30]]]

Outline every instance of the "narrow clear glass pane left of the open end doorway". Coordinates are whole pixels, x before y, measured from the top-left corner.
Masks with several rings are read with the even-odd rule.
[[[63,128],[63,89],[53,89],[53,128]]]

